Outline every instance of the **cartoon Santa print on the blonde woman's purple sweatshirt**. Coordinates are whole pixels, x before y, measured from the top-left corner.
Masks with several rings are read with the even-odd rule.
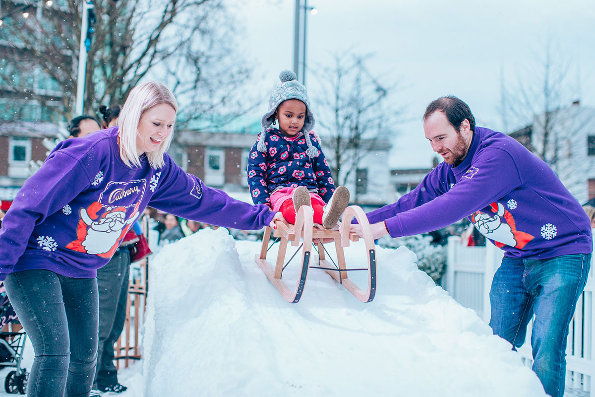
[[[104,207],[97,201],[88,208],[81,208],[77,227],[78,238],[68,243],[66,248],[102,258],[111,258],[130,225],[139,217],[139,204],[140,202],[134,206],[129,219],[126,219],[124,207],[107,207],[101,216],[98,213]]]

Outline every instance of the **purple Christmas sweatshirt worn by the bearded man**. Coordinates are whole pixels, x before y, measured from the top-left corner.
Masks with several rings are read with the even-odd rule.
[[[461,164],[441,162],[399,201],[367,215],[370,223],[385,221],[392,237],[468,217],[515,258],[593,251],[590,220],[552,169],[512,137],[481,127]]]

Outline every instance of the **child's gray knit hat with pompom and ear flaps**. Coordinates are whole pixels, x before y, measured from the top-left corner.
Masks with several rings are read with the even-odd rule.
[[[287,101],[287,99],[299,99],[299,101],[302,101],[306,105],[306,121],[303,123],[302,128],[303,135],[306,139],[306,145],[308,145],[306,154],[310,158],[316,157],[318,155],[318,149],[312,146],[312,142],[310,141],[310,131],[314,128],[314,115],[312,115],[312,111],[310,110],[308,91],[306,91],[306,87],[297,81],[296,74],[291,70],[286,69],[281,71],[281,73],[279,73],[279,80],[281,80],[281,83],[273,90],[271,98],[268,100],[268,112],[262,116],[262,131],[256,148],[259,152],[264,153],[267,151],[267,146],[265,146],[264,143],[265,135],[267,129],[273,125],[273,114],[281,102]]]

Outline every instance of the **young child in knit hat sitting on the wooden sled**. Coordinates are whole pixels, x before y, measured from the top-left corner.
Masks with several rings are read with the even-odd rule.
[[[248,159],[248,186],[255,204],[267,204],[295,223],[297,210],[311,205],[314,222],[333,229],[349,203],[345,186],[335,189],[328,162],[312,132],[314,115],[306,88],[283,70],[262,116],[262,132]],[[278,127],[272,127],[278,123]]]

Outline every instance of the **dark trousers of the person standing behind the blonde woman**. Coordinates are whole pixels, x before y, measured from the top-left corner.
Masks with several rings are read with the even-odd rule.
[[[99,288],[99,348],[93,385],[118,384],[114,365],[114,343],[120,337],[126,320],[126,304],[130,279],[130,251],[118,249],[102,268],[97,270]]]

